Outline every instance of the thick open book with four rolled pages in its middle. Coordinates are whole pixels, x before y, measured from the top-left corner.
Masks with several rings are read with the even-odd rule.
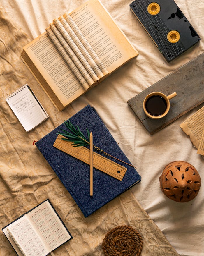
[[[53,20],[21,58],[61,111],[138,52],[99,0]]]

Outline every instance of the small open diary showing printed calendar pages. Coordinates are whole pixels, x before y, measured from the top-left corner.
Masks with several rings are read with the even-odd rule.
[[[48,199],[2,231],[20,256],[48,255],[73,238]]]

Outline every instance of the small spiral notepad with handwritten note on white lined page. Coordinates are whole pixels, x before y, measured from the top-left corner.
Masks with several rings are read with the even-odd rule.
[[[45,109],[27,84],[6,98],[6,102],[27,132],[48,118]]]

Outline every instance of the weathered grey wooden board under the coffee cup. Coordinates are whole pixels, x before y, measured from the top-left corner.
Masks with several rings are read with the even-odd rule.
[[[156,133],[204,102],[203,61],[204,53],[128,100],[127,103],[150,134]],[[162,92],[165,95],[177,93],[170,100],[168,114],[158,120],[150,119],[143,111],[143,100],[151,92]]]

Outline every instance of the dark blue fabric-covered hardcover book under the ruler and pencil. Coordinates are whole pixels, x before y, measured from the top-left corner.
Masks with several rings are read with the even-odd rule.
[[[86,128],[92,131],[93,143],[95,145],[114,157],[130,163],[101,121],[99,115],[91,106],[86,106],[69,120],[75,127],[79,126],[84,135],[87,134]],[[125,166],[127,171],[122,181],[119,181],[94,168],[93,196],[90,197],[89,165],[53,147],[58,136],[56,133],[61,132],[61,129],[66,130],[67,128],[61,124],[51,133],[36,142],[36,146],[71,194],[85,217],[140,181],[141,177],[135,168],[107,156],[107,158],[114,162]]]

